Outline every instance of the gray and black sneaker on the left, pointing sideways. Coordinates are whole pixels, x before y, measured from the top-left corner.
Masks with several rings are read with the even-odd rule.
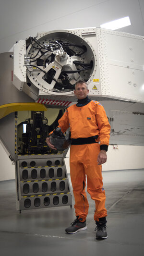
[[[71,223],[71,226],[66,228],[66,232],[69,234],[75,234],[78,231],[86,230],[86,222],[81,222],[78,219],[74,219],[74,221]]]

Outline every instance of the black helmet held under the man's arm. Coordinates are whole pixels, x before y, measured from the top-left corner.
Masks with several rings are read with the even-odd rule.
[[[71,144],[70,135],[71,133],[68,132],[66,136],[61,132],[61,128],[57,127],[53,133],[50,135],[50,143],[55,146],[58,150],[67,149],[68,146]]]

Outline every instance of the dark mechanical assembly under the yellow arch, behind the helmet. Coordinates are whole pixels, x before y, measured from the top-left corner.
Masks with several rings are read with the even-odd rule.
[[[48,125],[48,119],[44,116],[44,111],[31,111],[31,118],[18,125],[18,153],[22,155],[56,154],[58,150],[50,149],[46,143],[46,138],[59,125],[58,120],[62,115],[63,110],[60,110],[56,120]],[[25,132],[23,125],[26,126]]]

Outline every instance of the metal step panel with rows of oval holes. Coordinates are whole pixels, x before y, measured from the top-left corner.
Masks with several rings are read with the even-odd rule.
[[[63,154],[18,156],[17,209],[71,206]]]

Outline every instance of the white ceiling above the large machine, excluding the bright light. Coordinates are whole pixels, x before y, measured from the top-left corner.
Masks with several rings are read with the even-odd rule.
[[[99,27],[125,16],[132,25],[118,31],[144,36],[144,0],[0,0],[0,52],[37,32]]]

